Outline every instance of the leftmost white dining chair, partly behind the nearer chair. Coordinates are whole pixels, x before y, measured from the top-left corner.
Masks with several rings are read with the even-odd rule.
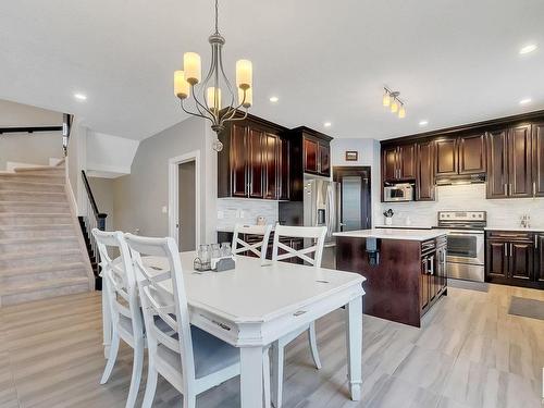
[[[126,398],[126,407],[129,408],[135,406],[138,396],[146,347],[136,277],[123,233],[94,228],[92,235],[100,255],[102,296],[107,299],[104,312],[110,313],[111,321],[110,351],[100,384],[106,384],[110,379],[118,358],[120,339],[123,339],[134,349],[133,373]],[[120,258],[112,260],[108,248],[119,250]]]

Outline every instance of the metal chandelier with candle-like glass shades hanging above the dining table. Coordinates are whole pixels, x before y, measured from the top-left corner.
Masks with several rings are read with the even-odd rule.
[[[181,100],[184,112],[207,119],[211,122],[211,128],[218,134],[225,128],[226,122],[242,121],[247,118],[247,111],[252,104],[252,65],[251,61],[236,61],[236,89],[233,89],[223,69],[222,49],[225,39],[219,33],[219,7],[215,0],[215,32],[208,38],[211,45],[211,65],[208,75],[201,81],[200,55],[196,52],[183,54],[183,71],[174,72],[174,94]],[[228,106],[223,107],[222,90],[227,92]],[[191,98],[193,97],[193,98]],[[187,99],[193,99],[195,110],[186,108]],[[245,113],[237,115],[236,112],[244,108]],[[223,144],[217,139],[213,149],[221,151]]]

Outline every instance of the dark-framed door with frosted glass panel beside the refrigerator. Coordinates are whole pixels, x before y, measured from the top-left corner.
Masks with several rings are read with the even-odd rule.
[[[368,230],[372,225],[369,166],[335,166],[339,183],[341,231]]]

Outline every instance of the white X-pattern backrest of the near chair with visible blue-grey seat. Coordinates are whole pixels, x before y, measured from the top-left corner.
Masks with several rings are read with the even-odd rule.
[[[195,360],[190,337],[189,312],[183,280],[182,261],[173,238],[148,238],[125,234],[138,282],[149,354],[157,355],[162,345],[182,359],[184,390],[195,379]],[[147,257],[144,258],[143,257]],[[164,287],[172,284],[173,290]],[[162,320],[177,338],[164,333],[158,325]]]

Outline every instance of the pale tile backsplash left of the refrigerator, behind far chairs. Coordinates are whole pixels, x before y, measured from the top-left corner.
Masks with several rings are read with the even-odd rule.
[[[267,224],[277,222],[277,201],[220,198],[218,199],[218,230],[232,228],[236,223],[255,224],[257,217]]]

